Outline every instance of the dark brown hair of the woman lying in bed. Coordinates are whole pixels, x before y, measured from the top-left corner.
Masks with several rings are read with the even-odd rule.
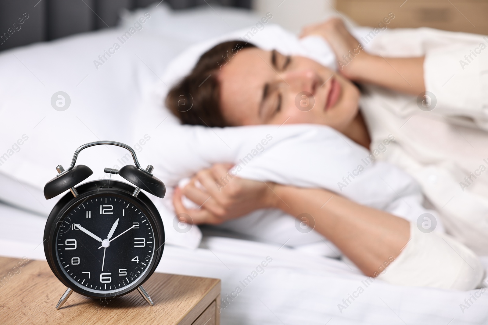
[[[242,40],[231,40],[212,47],[200,57],[191,73],[170,89],[166,96],[166,107],[183,124],[228,126],[221,111],[217,75],[238,51],[251,47],[256,46]]]

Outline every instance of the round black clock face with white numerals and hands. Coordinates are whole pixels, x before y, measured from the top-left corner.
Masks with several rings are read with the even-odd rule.
[[[115,293],[144,278],[158,243],[137,201],[95,194],[67,210],[55,236],[62,273],[94,294]]]

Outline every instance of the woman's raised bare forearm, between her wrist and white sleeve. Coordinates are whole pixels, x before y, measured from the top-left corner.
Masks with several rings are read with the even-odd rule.
[[[367,54],[361,57],[351,78],[415,96],[426,91],[424,57],[380,57]]]

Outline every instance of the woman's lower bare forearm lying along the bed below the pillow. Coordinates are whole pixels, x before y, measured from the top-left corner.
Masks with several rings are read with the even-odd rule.
[[[368,276],[378,275],[380,267],[396,258],[408,242],[408,221],[387,212],[326,190],[276,185],[274,191],[279,197],[276,208],[294,216],[310,214],[315,230]]]

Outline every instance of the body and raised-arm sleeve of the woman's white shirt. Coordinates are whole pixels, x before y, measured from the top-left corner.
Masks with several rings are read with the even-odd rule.
[[[398,29],[377,37],[368,50],[385,57],[425,55],[431,93],[418,104],[416,96],[367,86],[360,106],[370,148],[393,134],[377,159],[410,173],[447,232],[488,255],[488,37]]]

